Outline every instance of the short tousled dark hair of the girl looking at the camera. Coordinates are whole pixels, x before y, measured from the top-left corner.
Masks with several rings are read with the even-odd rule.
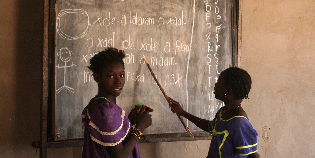
[[[108,64],[112,64],[113,62],[121,63],[124,66],[123,58],[125,56],[126,55],[123,50],[107,47],[106,50],[97,53],[90,59],[90,65],[88,68],[93,72],[93,74],[101,74],[102,70],[106,68]]]

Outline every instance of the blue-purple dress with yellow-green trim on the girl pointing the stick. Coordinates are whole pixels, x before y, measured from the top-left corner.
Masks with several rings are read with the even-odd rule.
[[[246,158],[247,155],[255,153],[257,131],[243,116],[220,120],[222,108],[208,124],[213,137],[207,158]]]

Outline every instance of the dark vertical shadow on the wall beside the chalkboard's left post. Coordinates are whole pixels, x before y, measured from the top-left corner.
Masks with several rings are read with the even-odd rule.
[[[18,0],[15,3],[16,94],[14,119],[14,157],[34,157],[31,141],[39,140],[41,98],[41,54],[43,1]],[[36,157],[38,157],[37,154]]]

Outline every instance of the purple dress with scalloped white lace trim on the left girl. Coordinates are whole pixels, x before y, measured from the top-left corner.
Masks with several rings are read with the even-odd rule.
[[[111,158],[107,146],[115,146],[125,141],[133,129],[132,125],[125,111],[115,103],[100,103],[93,113],[89,112],[89,104],[81,114],[84,129],[82,157]],[[137,145],[128,158],[140,158]]]

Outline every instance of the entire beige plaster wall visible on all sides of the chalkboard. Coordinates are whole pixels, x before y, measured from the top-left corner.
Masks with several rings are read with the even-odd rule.
[[[31,141],[39,140],[42,6],[40,0],[0,1],[0,157],[34,157]],[[315,157],[315,1],[243,0],[242,26],[241,67],[253,79],[242,106],[259,133],[261,157]],[[209,144],[139,148],[144,158],[199,158]],[[76,158],[81,150],[49,149],[48,157]]]

